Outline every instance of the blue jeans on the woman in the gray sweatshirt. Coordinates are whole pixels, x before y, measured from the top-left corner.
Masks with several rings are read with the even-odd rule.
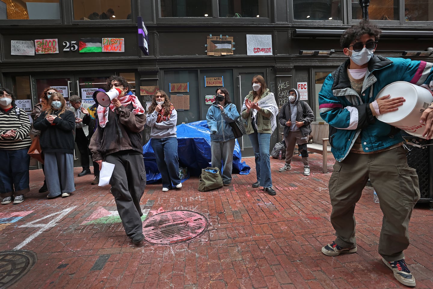
[[[168,189],[181,183],[179,177],[178,139],[152,138],[151,144],[155,152],[156,165],[161,173],[162,187]]]

